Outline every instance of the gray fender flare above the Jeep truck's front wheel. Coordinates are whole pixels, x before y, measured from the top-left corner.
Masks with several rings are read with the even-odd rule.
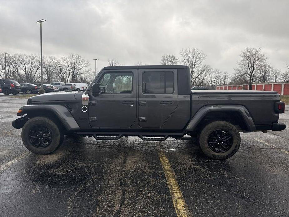
[[[27,114],[33,111],[51,111],[61,121],[67,130],[79,130],[79,126],[72,114],[63,105],[47,104],[47,105],[24,105],[20,108],[22,114]],[[45,113],[44,113],[45,114]]]

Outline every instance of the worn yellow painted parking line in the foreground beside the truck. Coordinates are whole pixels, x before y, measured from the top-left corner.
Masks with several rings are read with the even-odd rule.
[[[169,160],[163,152],[159,153],[160,161],[162,163],[162,169],[164,170],[167,185],[170,189],[172,202],[174,204],[176,213],[178,217],[187,217],[191,216],[187,210],[187,204],[183,198],[182,192],[179,185],[177,184],[177,179],[175,172],[173,171]]]

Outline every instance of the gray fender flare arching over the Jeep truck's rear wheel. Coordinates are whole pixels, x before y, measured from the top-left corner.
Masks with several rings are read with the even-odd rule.
[[[187,131],[193,131],[200,123],[202,118],[211,111],[236,111],[240,113],[245,120],[247,129],[249,132],[256,130],[255,123],[249,113],[248,109],[242,105],[208,105],[200,108],[197,113],[192,117],[189,124],[186,127]]]

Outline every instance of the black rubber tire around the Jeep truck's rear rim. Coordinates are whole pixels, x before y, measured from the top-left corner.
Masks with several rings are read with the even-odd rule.
[[[230,149],[223,153],[214,152],[208,145],[208,137],[217,129],[224,129],[228,131],[233,138],[232,146]],[[227,121],[214,121],[207,124],[199,135],[199,144],[202,152],[211,159],[227,159],[232,157],[240,147],[241,138],[238,129]]]

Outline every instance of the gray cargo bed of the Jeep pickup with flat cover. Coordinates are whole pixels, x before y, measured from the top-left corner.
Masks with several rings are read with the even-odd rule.
[[[193,90],[191,115],[193,117],[204,106],[240,105],[247,108],[255,125],[260,125],[261,129],[261,125],[272,125],[278,121],[279,114],[274,111],[278,101],[280,95],[276,91]]]

